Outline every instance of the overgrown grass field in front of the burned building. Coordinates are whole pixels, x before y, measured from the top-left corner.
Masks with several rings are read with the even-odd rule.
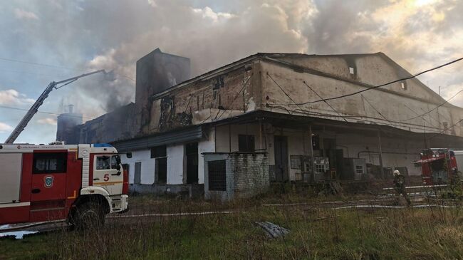
[[[330,199],[340,198],[323,201]],[[311,204],[262,205],[268,202]],[[239,213],[107,219],[99,232],[62,230],[1,239],[0,259],[463,259],[461,209],[335,210],[320,202],[301,194],[230,204],[132,197],[137,214]],[[270,239],[254,223],[261,221],[291,232]]]

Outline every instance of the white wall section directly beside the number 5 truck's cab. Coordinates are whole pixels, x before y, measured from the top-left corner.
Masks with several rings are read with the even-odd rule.
[[[150,150],[132,151],[132,158],[122,155],[120,160],[129,165],[129,183],[133,184],[135,177],[135,162],[142,163],[141,184],[153,184],[155,182],[155,159],[151,158]]]

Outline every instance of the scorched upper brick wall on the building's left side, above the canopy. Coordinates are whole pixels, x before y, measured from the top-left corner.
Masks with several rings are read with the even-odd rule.
[[[173,88],[154,98],[150,126],[143,132],[165,132],[254,110],[254,95],[260,95],[256,80],[254,71],[243,66]]]

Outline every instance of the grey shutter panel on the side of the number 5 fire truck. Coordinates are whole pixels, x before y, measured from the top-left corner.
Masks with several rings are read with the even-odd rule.
[[[19,202],[21,164],[21,153],[0,154],[0,203]]]

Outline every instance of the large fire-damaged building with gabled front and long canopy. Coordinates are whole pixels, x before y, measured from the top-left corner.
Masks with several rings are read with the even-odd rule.
[[[152,92],[138,135],[113,145],[132,152],[140,191],[231,199],[269,182],[419,175],[420,150],[463,147],[463,109],[407,77],[383,53],[257,53]]]

